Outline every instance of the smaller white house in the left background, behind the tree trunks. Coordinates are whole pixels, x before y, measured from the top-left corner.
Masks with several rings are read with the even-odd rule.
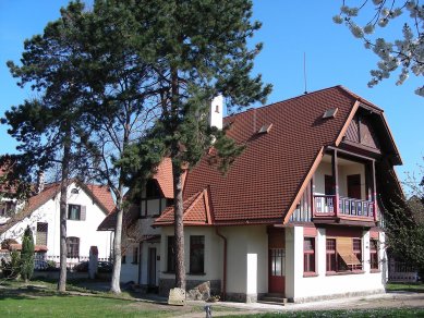
[[[100,258],[110,257],[111,233],[98,232],[97,227],[113,208],[107,186],[76,181],[68,186],[68,257],[87,257],[90,246],[98,247]],[[60,183],[46,184],[0,224],[0,243],[14,240],[20,244],[27,225],[33,230],[36,250],[45,250],[50,259],[60,255]]]

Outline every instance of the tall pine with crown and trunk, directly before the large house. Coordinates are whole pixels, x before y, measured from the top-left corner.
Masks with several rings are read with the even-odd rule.
[[[209,127],[207,118],[218,95],[226,98],[230,112],[265,102],[270,85],[264,86],[261,75],[251,75],[262,45],[247,46],[261,23],[251,21],[250,0],[109,2],[132,8],[138,21],[134,28],[138,54],[153,65],[160,117],[141,143],[141,154],[150,145],[150,152],[172,159],[175,285],[185,289],[183,168],[196,164],[213,140],[223,170],[240,154],[243,145]]]

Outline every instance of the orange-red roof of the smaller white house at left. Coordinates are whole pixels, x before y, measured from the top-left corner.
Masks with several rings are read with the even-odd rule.
[[[95,185],[95,184],[84,184],[78,181],[76,182],[88,196],[92,196],[92,199],[100,207],[105,213],[112,212],[114,208],[113,198],[108,186],[105,185]],[[35,210],[45,205],[49,199],[53,198],[57,194],[60,193],[60,183],[46,184],[44,189],[29,197],[25,204],[23,210],[14,215],[10,220],[4,224],[0,225],[0,234],[8,231],[14,224],[19,223],[23,219],[29,217]]]

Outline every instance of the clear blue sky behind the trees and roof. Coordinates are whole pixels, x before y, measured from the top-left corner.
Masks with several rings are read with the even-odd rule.
[[[23,41],[43,32],[49,21],[59,16],[64,0],[0,0],[0,117],[13,105],[33,96],[29,88],[16,86],[5,62],[19,61]],[[396,86],[396,76],[374,88],[367,87],[370,70],[377,58],[353,38],[347,27],[331,17],[339,12],[340,1],[255,0],[254,19],[263,22],[254,41],[263,41],[264,50],[256,59],[255,72],[274,85],[268,102],[303,94],[303,61],[306,54],[307,90],[343,85],[385,110],[395,140],[403,159],[397,169],[420,173],[424,156],[424,98],[413,90],[423,78],[410,76]],[[390,34],[399,29],[388,29]],[[13,152],[15,142],[0,126],[0,152]]]

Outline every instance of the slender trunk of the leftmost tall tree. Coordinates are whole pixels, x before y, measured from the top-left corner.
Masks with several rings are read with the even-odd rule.
[[[68,205],[68,182],[71,155],[71,132],[66,129],[66,136],[63,143],[62,178],[60,183],[60,272],[58,291],[66,291],[66,205]]]

